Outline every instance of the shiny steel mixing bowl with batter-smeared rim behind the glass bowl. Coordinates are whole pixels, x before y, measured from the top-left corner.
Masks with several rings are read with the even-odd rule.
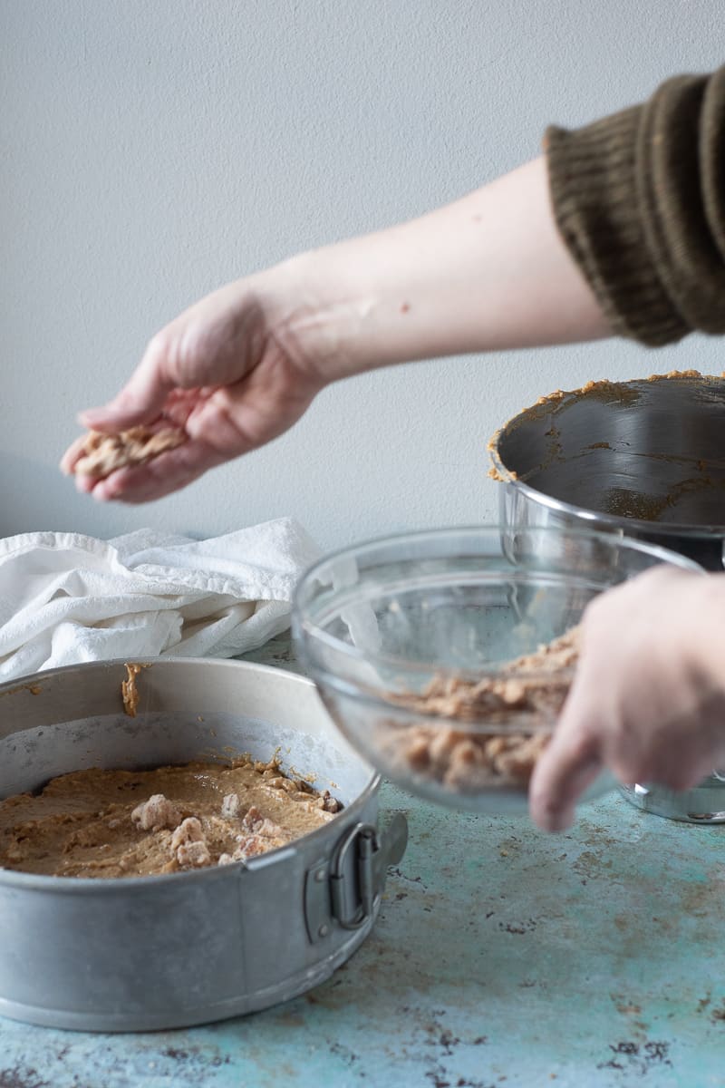
[[[502,521],[616,531],[723,569],[725,379],[695,371],[542,397],[490,444]]]

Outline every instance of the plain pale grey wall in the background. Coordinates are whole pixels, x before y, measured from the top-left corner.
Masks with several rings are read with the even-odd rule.
[[[722,0],[0,0],[0,532],[289,514],[336,546],[478,521],[486,441],[541,393],[720,372],[703,337],[421,363],[153,505],[99,507],[55,469],[76,411],[200,295],[458,197],[722,41]]]

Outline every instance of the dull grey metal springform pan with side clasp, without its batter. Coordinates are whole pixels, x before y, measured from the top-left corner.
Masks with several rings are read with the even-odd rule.
[[[0,1014],[139,1031],[265,1009],[322,982],[368,935],[405,823],[378,828],[379,777],[311,681],[242,662],[141,658],[136,717],[123,662],[0,687],[0,796],[85,767],[142,769],[278,753],[342,811],[247,863],[123,879],[0,869]]]

